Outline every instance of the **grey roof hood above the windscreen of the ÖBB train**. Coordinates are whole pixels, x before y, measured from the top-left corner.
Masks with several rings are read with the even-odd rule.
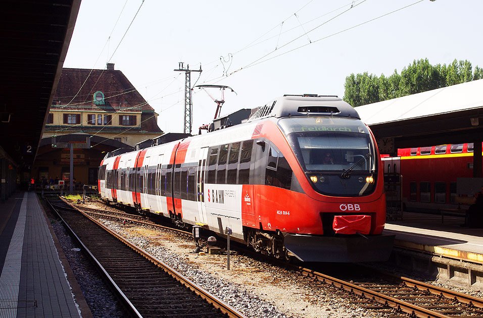
[[[360,119],[354,108],[337,96],[317,94],[283,95],[269,101],[253,114],[248,122],[267,117],[337,116]]]

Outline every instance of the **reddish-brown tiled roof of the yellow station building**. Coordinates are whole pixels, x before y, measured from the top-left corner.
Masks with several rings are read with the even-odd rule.
[[[93,96],[96,91],[104,93],[104,105],[94,104]],[[70,68],[62,69],[62,75],[57,84],[51,110],[57,109],[154,112],[121,71]]]

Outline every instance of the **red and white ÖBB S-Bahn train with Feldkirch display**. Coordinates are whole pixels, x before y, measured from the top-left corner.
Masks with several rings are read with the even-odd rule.
[[[103,199],[180,225],[200,225],[275,257],[379,261],[380,155],[369,128],[341,98],[284,95],[247,122],[106,156]]]

